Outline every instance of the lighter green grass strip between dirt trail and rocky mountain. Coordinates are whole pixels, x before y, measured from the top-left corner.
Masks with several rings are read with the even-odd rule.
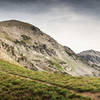
[[[0,70],[13,73],[35,80],[45,81],[68,89],[80,92],[100,92],[100,78],[95,77],[72,77],[60,74],[49,74],[45,72],[31,71],[8,62],[0,60]]]

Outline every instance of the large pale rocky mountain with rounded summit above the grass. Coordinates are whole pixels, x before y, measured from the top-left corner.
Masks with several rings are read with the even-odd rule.
[[[17,20],[0,22],[0,53],[5,61],[35,71],[100,75],[98,69],[81,60],[69,47],[62,46],[39,28]]]

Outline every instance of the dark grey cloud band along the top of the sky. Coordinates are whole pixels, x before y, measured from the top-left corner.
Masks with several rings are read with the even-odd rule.
[[[53,7],[67,6],[76,13],[100,17],[100,0],[0,0],[0,9],[35,13],[49,12]]]

